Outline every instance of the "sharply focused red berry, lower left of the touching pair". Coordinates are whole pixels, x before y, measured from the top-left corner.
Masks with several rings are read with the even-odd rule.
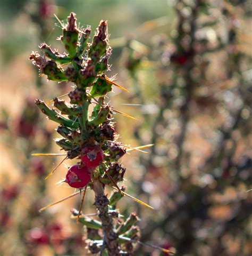
[[[69,168],[65,178],[68,185],[72,188],[83,188],[91,180],[88,167],[79,167],[78,164]]]

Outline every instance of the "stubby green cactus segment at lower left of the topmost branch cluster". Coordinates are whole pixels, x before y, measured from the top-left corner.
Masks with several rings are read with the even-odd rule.
[[[43,68],[43,73],[47,75],[49,80],[52,81],[68,81],[68,77],[65,75],[64,70],[59,67],[55,61],[52,60],[47,61],[46,66]]]

